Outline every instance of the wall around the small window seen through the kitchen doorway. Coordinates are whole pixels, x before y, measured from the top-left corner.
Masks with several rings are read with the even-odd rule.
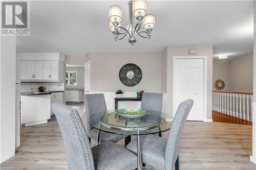
[[[77,71],[77,85],[66,85],[66,89],[84,89],[84,67],[66,67],[68,71]]]

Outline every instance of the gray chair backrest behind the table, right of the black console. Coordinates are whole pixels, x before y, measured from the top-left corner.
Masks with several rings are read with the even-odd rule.
[[[141,100],[141,109],[162,111],[163,93],[144,92]]]

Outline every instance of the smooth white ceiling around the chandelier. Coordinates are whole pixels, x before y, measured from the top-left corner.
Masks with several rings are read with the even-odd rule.
[[[32,1],[30,36],[17,37],[17,52],[161,52],[167,45],[212,44],[214,55],[236,58],[253,52],[253,1],[147,1],[156,16],[152,39],[109,31],[108,8],[122,8],[127,24],[128,1]]]

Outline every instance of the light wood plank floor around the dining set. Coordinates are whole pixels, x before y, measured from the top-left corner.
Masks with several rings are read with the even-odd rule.
[[[84,119],[83,104],[74,105]],[[164,133],[167,137],[168,132]],[[249,161],[252,152],[252,126],[187,122],[180,151],[180,169],[255,170]],[[26,166],[28,169],[67,169],[65,147],[56,120],[20,129],[20,147],[1,166]],[[94,145],[95,142],[92,142]],[[120,142],[123,144],[123,142]],[[157,169],[146,166],[144,169]],[[121,169],[120,169],[121,170]]]

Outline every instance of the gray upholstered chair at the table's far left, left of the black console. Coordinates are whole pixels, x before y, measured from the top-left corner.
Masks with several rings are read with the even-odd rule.
[[[97,141],[98,130],[90,126],[89,118],[94,114],[106,111],[106,103],[105,103],[104,95],[102,93],[84,94],[83,101],[84,101],[84,110],[86,111],[85,114],[86,114],[86,120],[87,120],[87,133],[88,133],[89,140],[91,141],[91,138],[93,138],[94,140]],[[99,142],[109,141],[109,140],[113,142],[118,142],[124,139],[125,137],[126,137],[125,135],[117,135],[112,133],[100,132]]]

